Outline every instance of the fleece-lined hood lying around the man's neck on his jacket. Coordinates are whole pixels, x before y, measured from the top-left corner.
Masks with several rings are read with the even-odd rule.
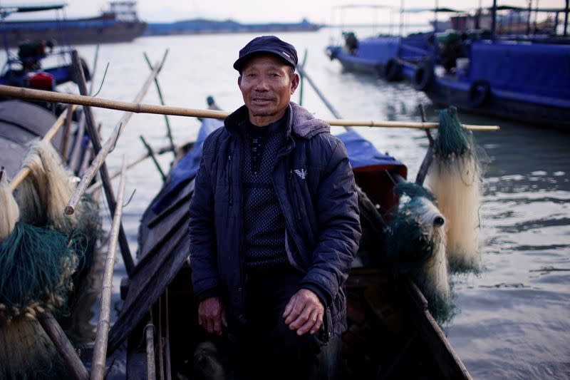
[[[224,125],[230,133],[237,132],[237,125],[249,117],[246,106],[238,108],[224,120]],[[301,138],[312,138],[323,132],[330,132],[331,126],[325,121],[315,118],[313,114],[299,106],[289,103],[289,120],[287,120],[289,133],[294,133]]]

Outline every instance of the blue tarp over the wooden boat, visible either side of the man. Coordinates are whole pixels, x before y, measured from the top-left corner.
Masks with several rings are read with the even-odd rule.
[[[165,188],[162,189],[160,196],[157,197],[154,205],[152,205],[154,212],[158,213],[165,210],[165,208],[170,205],[170,202],[175,199],[177,192],[184,188],[184,186],[195,177],[200,165],[202,145],[204,144],[205,138],[222,125],[222,120],[204,119],[202,121],[202,127],[199,130],[194,148],[170,171],[170,178]],[[404,166],[403,163],[395,160],[395,158],[378,152],[370,141],[363,138],[355,130],[348,130],[345,133],[337,135],[337,137],[340,138],[346,146],[353,169],[371,165]]]

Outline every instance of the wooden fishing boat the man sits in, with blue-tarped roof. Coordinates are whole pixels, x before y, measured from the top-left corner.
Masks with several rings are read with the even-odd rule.
[[[383,220],[398,202],[393,186],[405,180],[405,165],[379,153],[353,130],[338,137],[347,146],[361,188],[363,225],[358,258],[346,283],[349,327],[343,335],[344,377],[470,379],[418,287],[408,277],[393,276],[383,265]],[[122,282],[125,302],[108,344],[114,360],[123,357],[126,374],[111,371],[108,376],[140,379],[146,372],[152,379],[155,374],[190,378],[195,348],[208,340],[197,324],[188,261],[188,205],[199,142],[185,162],[175,166],[142,216],[140,260]]]

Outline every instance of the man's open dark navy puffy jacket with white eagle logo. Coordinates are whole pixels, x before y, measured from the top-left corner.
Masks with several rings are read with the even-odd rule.
[[[198,299],[220,296],[230,319],[244,322],[242,188],[244,149],[237,125],[245,106],[204,141],[190,201],[190,262]],[[301,287],[326,304],[328,337],[346,329],[343,285],[358,250],[361,226],[346,148],[330,127],[290,104],[287,143],[272,175],[286,222],[291,265],[305,273]]]

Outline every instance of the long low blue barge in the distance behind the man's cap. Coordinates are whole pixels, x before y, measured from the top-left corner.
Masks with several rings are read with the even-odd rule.
[[[273,33],[284,31],[318,31],[321,25],[307,19],[297,23],[240,24],[233,20],[191,19],[171,23],[151,23],[145,36],[170,36],[175,34],[222,34],[222,33]]]

